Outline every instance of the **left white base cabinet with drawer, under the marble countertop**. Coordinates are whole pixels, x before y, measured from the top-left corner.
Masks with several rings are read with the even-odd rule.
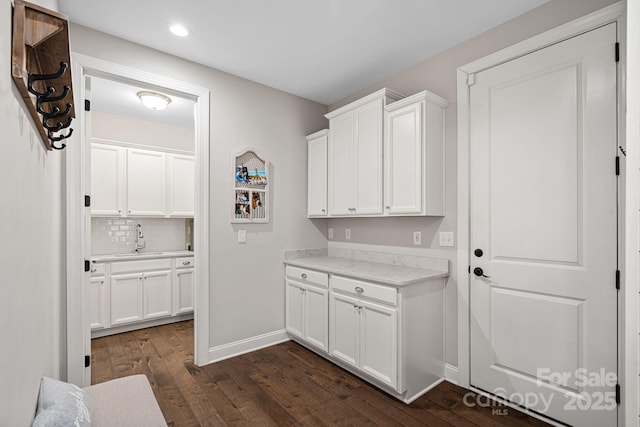
[[[297,267],[286,269],[287,332],[322,352],[328,347],[328,275]]]

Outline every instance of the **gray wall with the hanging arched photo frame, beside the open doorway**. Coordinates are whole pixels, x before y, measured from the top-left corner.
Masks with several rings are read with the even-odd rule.
[[[283,250],[327,244],[324,224],[316,227],[306,219],[304,139],[326,127],[327,107],[82,26],[72,25],[71,48],[210,89],[209,344],[281,330]],[[254,147],[272,164],[269,224],[230,223],[232,156],[244,147]],[[238,229],[247,230],[246,244],[237,243]]]

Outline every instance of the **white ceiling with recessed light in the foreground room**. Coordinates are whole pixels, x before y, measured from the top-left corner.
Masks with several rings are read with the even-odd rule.
[[[549,0],[59,0],[72,22],[330,105]],[[182,23],[191,35],[168,31]]]

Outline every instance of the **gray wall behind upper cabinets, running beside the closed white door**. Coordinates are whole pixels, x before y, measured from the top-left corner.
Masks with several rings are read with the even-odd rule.
[[[447,283],[445,323],[446,359],[452,365],[458,364],[456,289],[458,278],[455,274],[455,248],[440,248],[438,245],[438,232],[456,231],[456,70],[464,64],[612,3],[615,3],[615,1],[552,0],[518,18],[391,76],[374,86],[352,94],[329,107],[330,110],[334,110],[383,87],[388,87],[405,95],[428,89],[448,99],[450,102],[446,111],[446,216],[444,218],[331,219],[328,220],[328,224],[329,227],[334,228],[334,240],[336,241],[345,241],[344,229],[349,227],[351,228],[351,242],[375,245],[413,247],[411,239],[413,231],[422,231],[422,247],[434,249],[434,256],[451,260],[453,275]]]

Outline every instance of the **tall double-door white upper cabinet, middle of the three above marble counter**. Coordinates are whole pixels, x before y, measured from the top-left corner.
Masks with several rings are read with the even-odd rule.
[[[383,109],[401,97],[381,89],[326,115],[330,216],[382,215]]]

